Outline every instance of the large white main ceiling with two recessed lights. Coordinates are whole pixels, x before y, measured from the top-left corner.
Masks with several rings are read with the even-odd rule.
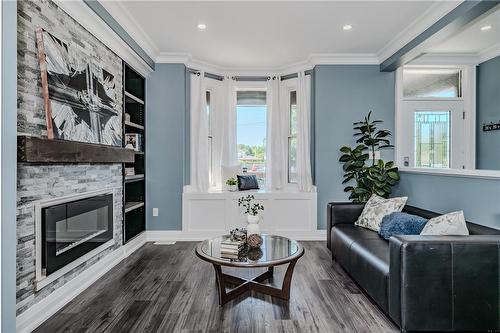
[[[414,37],[432,24],[416,31],[421,21],[443,15],[435,1],[101,3],[156,61],[189,55],[221,68],[283,67],[311,54],[380,59],[404,32]],[[353,29],[343,31],[344,24]]]

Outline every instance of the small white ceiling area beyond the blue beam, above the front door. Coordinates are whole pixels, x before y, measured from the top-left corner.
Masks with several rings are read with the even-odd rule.
[[[481,31],[490,25],[491,29]],[[481,54],[491,48],[500,47],[500,9],[480,17],[445,41],[436,41],[427,52]]]

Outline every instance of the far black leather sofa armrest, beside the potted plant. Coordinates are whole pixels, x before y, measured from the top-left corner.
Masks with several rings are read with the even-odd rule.
[[[336,224],[353,224],[361,215],[365,204],[330,202],[327,206],[326,246],[331,250],[331,231]]]

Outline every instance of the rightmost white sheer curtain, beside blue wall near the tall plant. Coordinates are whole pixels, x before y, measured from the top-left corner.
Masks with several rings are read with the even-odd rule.
[[[311,78],[304,72],[297,78],[297,186],[299,191],[311,192]]]

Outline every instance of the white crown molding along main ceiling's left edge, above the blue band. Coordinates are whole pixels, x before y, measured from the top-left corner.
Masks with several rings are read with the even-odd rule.
[[[123,3],[120,1],[100,1],[100,3],[148,56],[155,59],[160,50]]]

